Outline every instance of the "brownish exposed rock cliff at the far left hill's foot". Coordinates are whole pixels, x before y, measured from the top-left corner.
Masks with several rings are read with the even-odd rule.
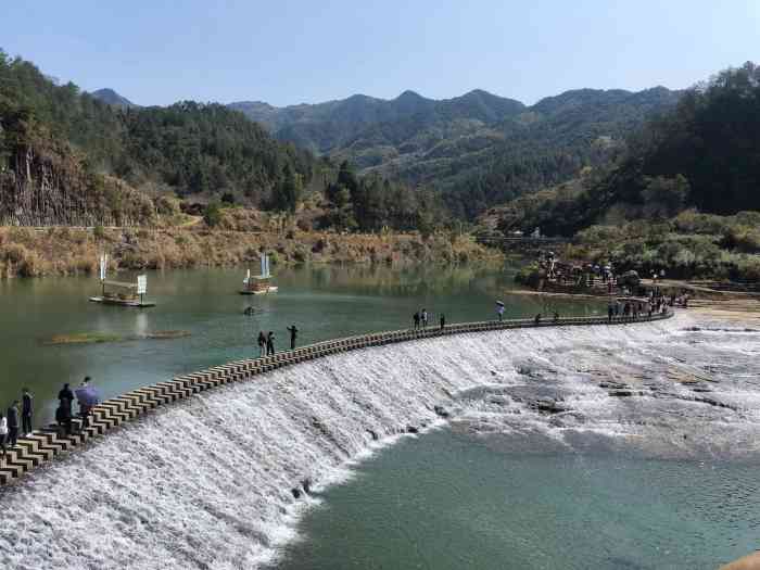
[[[152,201],[125,182],[88,173],[65,144],[17,144],[0,172],[2,226],[138,226]]]

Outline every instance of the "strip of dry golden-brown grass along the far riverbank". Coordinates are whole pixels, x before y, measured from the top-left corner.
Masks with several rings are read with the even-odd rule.
[[[504,256],[469,236],[245,232],[197,228],[0,228],[0,278],[90,275],[110,254],[111,270],[224,267],[258,262],[499,264]]]

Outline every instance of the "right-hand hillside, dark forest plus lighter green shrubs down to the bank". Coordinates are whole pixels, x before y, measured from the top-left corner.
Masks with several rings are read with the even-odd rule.
[[[760,67],[688,90],[604,168],[492,208],[485,233],[565,236],[565,258],[644,275],[760,280]]]

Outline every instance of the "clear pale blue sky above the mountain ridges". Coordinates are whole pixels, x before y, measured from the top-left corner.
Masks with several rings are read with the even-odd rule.
[[[760,0],[35,0],[0,48],[142,105],[282,106],[411,89],[532,104],[583,87],[689,87],[760,61]]]

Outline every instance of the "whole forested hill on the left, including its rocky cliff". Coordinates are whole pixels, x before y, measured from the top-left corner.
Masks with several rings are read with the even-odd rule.
[[[445,219],[431,192],[359,179],[225,105],[125,101],[58,85],[0,51],[0,225],[152,224],[170,197],[210,203],[208,225],[224,217],[219,203],[294,213],[304,200],[304,229],[429,231]],[[228,218],[246,216],[256,214]]]

